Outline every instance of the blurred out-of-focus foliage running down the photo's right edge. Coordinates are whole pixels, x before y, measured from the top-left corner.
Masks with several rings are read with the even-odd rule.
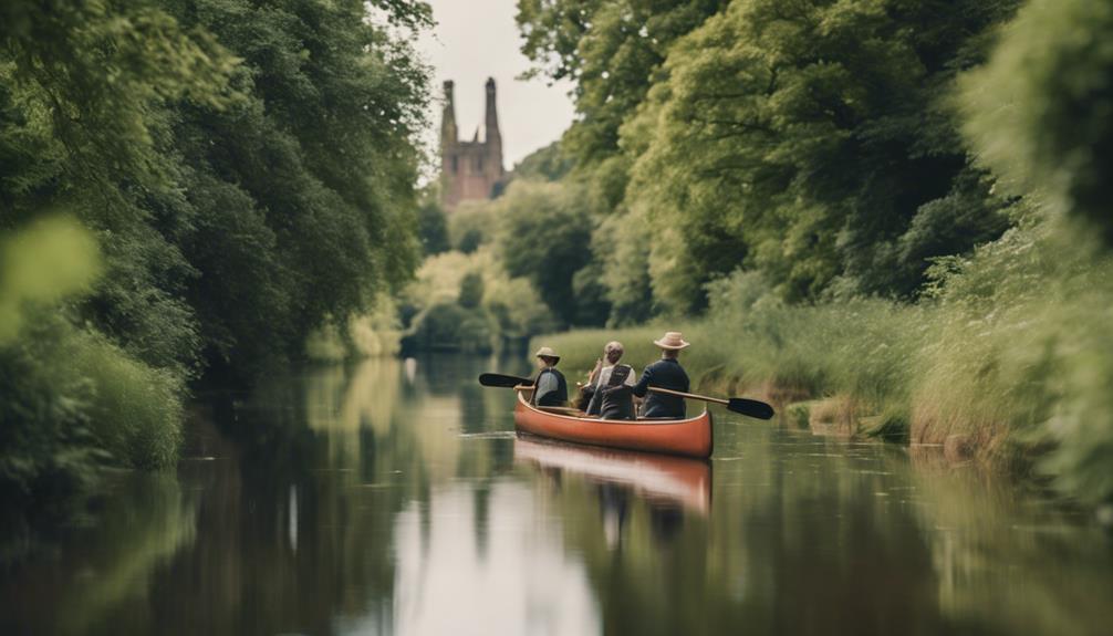
[[[1113,7],[1032,0],[989,63],[965,79],[962,100],[979,157],[1040,212],[1033,247],[1005,252],[991,270],[1008,281],[998,298],[1031,302],[999,335],[1009,351],[1003,374],[1014,391],[1041,391],[1043,410],[1026,419],[1056,445],[1048,464],[1061,484],[1113,504]],[[1033,260],[1042,271],[1016,276]],[[988,295],[986,278],[959,280]],[[996,317],[995,305],[983,314]]]

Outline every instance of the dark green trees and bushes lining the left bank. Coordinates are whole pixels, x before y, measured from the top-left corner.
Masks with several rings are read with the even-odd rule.
[[[249,382],[406,280],[426,69],[397,0],[0,9],[0,498],[176,457],[186,382]]]

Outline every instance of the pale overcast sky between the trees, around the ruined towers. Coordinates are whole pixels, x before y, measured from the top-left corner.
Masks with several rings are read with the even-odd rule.
[[[471,139],[483,123],[483,85],[493,77],[499,88],[499,127],[502,129],[503,163],[514,163],[560,138],[572,122],[572,102],[567,82],[545,86],[544,78],[515,79],[530,68],[519,49],[514,0],[427,0],[437,26],[422,36],[418,49],[433,66],[430,117],[431,147],[436,148],[443,102],[441,85],[456,82],[456,126],[460,137]]]

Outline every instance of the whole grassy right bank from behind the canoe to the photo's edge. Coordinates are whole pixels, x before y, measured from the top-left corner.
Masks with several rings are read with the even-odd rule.
[[[940,444],[959,456],[1053,474],[1065,493],[1113,496],[1113,261],[1084,246],[1064,258],[1044,225],[1011,231],[969,259],[937,266],[929,296],[790,306],[760,279],[711,286],[707,318],[534,339],[567,372],[591,367],[619,339],[640,368],[664,328],[693,346],[696,387],[758,395],[864,435]]]

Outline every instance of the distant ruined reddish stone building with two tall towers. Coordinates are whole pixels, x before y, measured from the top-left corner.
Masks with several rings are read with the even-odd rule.
[[[441,202],[445,211],[452,211],[461,201],[492,198],[504,175],[494,78],[486,81],[483,141],[480,141],[477,128],[471,141],[460,140],[452,92],[453,82],[449,80],[444,82],[444,113],[441,116]]]

